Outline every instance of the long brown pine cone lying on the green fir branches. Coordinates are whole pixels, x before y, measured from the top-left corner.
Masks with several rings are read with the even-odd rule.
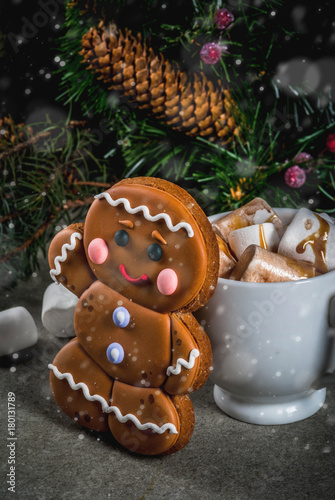
[[[147,47],[141,34],[100,22],[82,38],[84,62],[110,90],[118,90],[160,121],[189,136],[225,145],[239,135],[228,89],[204,74],[188,75]]]

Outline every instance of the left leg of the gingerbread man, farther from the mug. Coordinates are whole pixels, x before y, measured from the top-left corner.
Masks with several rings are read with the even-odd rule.
[[[78,424],[104,432],[108,430],[108,406],[112,379],[84,351],[75,338],[66,344],[49,365],[53,397],[66,415]]]

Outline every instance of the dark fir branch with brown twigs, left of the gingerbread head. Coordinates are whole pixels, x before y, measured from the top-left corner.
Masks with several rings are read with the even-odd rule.
[[[88,124],[42,125],[28,129],[11,122],[4,141],[10,151],[3,156],[0,178],[0,273],[5,282],[6,276],[11,283],[27,277],[38,266],[38,251],[46,252],[57,224],[82,220],[94,194],[117,178],[95,155],[94,145],[100,142]],[[22,143],[13,146],[11,137]],[[30,147],[37,142],[37,148]]]

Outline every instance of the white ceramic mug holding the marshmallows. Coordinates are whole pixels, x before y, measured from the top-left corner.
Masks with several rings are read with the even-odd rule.
[[[295,214],[276,212],[284,221]],[[335,381],[327,374],[335,369],[335,271],[282,283],[219,278],[196,316],[212,343],[214,399],[225,413],[270,425],[322,407]]]

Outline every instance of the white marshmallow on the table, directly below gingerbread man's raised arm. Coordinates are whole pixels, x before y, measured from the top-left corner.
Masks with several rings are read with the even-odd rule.
[[[43,326],[56,337],[74,337],[73,315],[78,297],[62,285],[51,283],[44,292]]]

